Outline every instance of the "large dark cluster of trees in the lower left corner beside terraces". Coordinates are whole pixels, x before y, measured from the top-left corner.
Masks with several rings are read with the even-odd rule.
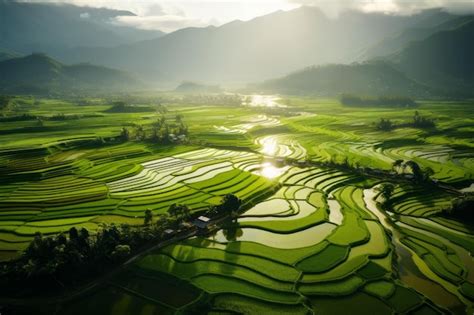
[[[146,227],[104,225],[95,235],[72,227],[68,233],[45,237],[36,233],[22,256],[0,264],[0,292],[5,295],[57,290],[80,283],[123,262],[138,248],[160,238],[171,223],[159,220]],[[38,291],[37,291],[38,292]]]

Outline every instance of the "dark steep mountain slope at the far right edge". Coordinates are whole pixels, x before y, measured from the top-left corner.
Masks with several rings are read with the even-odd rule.
[[[410,43],[391,56],[407,76],[442,91],[474,95],[474,19]]]

